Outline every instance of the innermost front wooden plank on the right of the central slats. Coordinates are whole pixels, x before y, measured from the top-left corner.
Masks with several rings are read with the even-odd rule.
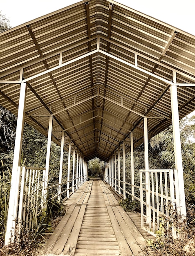
[[[114,234],[117,238],[119,248],[121,250],[121,254],[123,256],[130,256],[132,255],[132,251],[129,248],[126,239],[124,238],[123,234],[121,233],[121,229],[119,227],[119,223],[117,222],[117,219],[112,211],[112,207],[107,206],[108,214],[110,216],[110,221],[112,223],[112,227],[114,229]]]

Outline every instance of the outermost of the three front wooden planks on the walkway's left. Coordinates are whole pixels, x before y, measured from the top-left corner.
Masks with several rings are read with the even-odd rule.
[[[67,210],[66,215],[63,216],[61,222],[57,225],[56,229],[54,230],[54,233],[47,240],[47,245],[45,245],[45,250],[44,250],[45,253],[49,252],[52,249],[52,247],[54,246],[54,244],[56,243],[58,237],[61,234],[61,231],[63,230],[64,226],[66,225],[67,220],[71,216],[74,208],[75,208],[75,204],[72,204],[69,207],[69,209]]]

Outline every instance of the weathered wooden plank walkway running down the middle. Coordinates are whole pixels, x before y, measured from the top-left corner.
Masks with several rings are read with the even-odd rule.
[[[102,180],[89,180],[65,204],[67,214],[49,237],[44,255],[140,255],[146,245]]]

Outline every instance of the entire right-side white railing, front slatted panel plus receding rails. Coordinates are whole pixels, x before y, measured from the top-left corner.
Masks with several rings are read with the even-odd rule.
[[[104,180],[124,198],[124,193],[132,197],[132,200],[140,202],[141,228],[155,235],[159,229],[160,216],[169,217],[169,205],[175,209],[179,198],[179,185],[177,170],[140,170],[140,186],[123,182],[107,174]],[[123,189],[123,183],[126,189]],[[120,186],[119,186],[120,185]],[[134,188],[134,189],[132,189]],[[173,232],[175,232],[173,230]],[[175,235],[175,234],[173,234]]]

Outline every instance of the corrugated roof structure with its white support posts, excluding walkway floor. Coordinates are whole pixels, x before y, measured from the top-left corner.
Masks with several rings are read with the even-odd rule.
[[[131,150],[128,193],[134,200],[140,190],[150,229],[163,208],[157,198],[186,214],[179,119],[195,110],[195,36],[117,2],[89,0],[2,32],[0,45],[0,104],[18,116],[6,243],[18,214],[24,122],[48,137],[43,195],[51,140],[61,156],[66,150],[77,159],[68,167],[67,198],[70,184],[87,180],[87,162],[95,157],[105,163],[105,182],[125,198],[125,157],[121,167],[118,159]],[[171,124],[176,170],[149,170],[148,139]],[[136,187],[133,148],[143,142],[145,170]]]

